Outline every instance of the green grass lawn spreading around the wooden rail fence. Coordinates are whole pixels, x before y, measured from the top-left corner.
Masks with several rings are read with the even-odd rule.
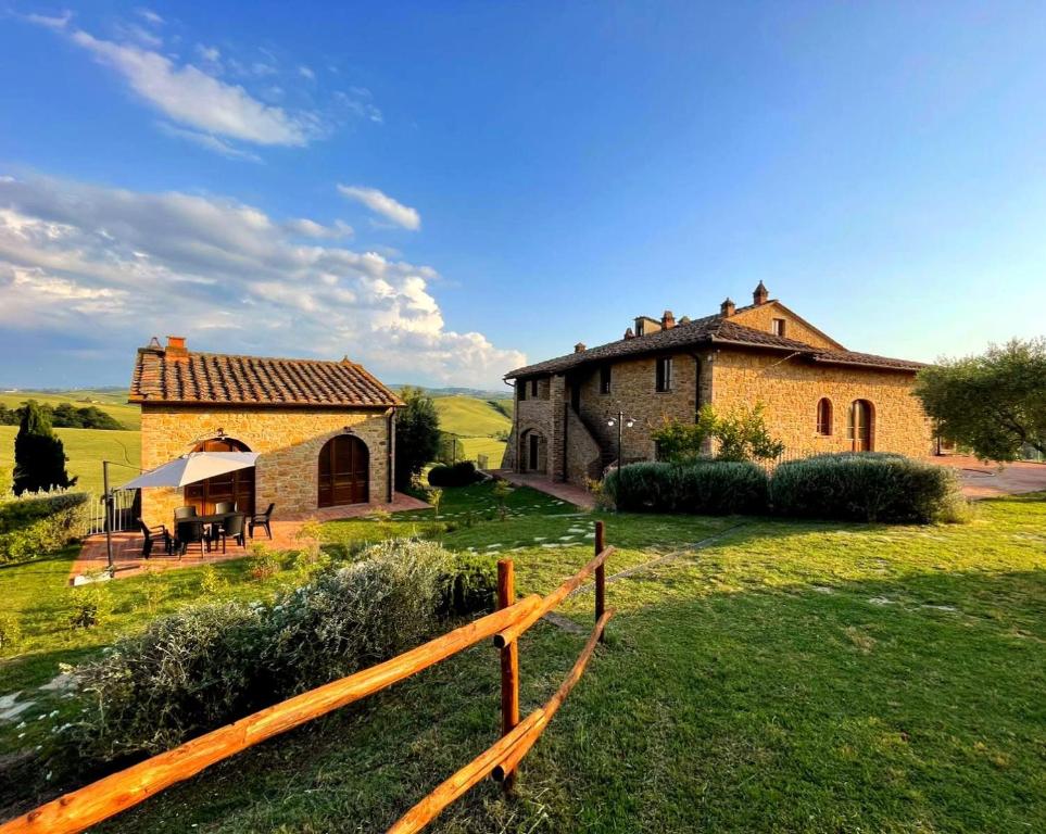
[[[590,557],[600,516],[528,490],[506,521],[487,520],[493,506],[487,485],[448,490],[441,536],[513,556],[519,593],[547,592]],[[430,535],[433,516],[326,535]],[[608,589],[607,645],[525,760],[517,796],[484,783],[432,831],[1046,830],[1046,496],[982,502],[957,527],[603,518],[619,547],[610,573],[639,569]],[[34,590],[26,570],[0,569],[0,592],[18,586],[35,611],[62,571]],[[193,572],[169,574],[188,597]],[[588,626],[591,593],[560,610]],[[46,610],[35,616],[49,634]],[[521,640],[525,713],[583,640],[546,623]],[[52,671],[41,657],[0,667],[22,687]],[[102,829],[383,831],[496,737],[497,698],[496,654],[477,646]]]

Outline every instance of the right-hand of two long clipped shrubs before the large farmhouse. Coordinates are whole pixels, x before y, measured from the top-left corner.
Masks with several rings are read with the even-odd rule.
[[[773,511],[799,518],[925,523],[954,510],[958,494],[948,467],[869,452],[791,460],[770,480]]]

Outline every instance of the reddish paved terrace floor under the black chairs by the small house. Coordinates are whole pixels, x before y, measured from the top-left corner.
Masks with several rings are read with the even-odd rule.
[[[273,516],[272,528],[273,539],[265,535],[264,530],[255,530],[255,538],[247,540],[247,548],[230,542],[225,553],[211,551],[200,553],[193,548],[180,559],[178,556],[168,556],[163,552],[163,545],[154,545],[152,555],[148,559],[141,557],[142,536],[140,533],[126,532],[113,533],[113,561],[116,566],[116,579],[133,577],[147,570],[171,570],[174,568],[192,568],[200,565],[207,565],[228,559],[239,559],[249,553],[252,544],[262,543],[278,551],[288,551],[301,547],[306,542],[301,536],[302,527],[310,521],[338,521],[344,518],[361,518],[368,516],[375,510],[387,513],[401,513],[411,509],[425,509],[429,505],[424,501],[418,501],[411,495],[395,493],[395,497],[388,504],[354,504],[348,507],[324,507],[311,510],[310,513],[280,516],[279,511]],[[104,535],[89,535],[84,540],[80,555],[73,563],[70,572],[70,584],[76,577],[89,576],[103,570],[109,564],[105,548]]]

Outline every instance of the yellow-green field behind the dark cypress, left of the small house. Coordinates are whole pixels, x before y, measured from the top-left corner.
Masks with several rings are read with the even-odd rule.
[[[14,435],[17,433],[17,426],[0,426],[0,469],[4,470],[8,478],[14,467]],[[79,478],[77,489],[102,492],[102,460],[130,464],[136,468],[141,463],[140,431],[55,429],[54,433],[65,445],[65,454],[70,459],[68,473]],[[135,471],[126,466],[113,466],[110,475],[113,485],[116,485],[134,478]]]

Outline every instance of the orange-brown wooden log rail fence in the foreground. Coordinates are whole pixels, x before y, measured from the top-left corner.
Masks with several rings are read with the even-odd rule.
[[[497,610],[377,666],[324,684],[285,702],[213,730],[167,753],[65,794],[0,825],[0,834],[73,834],[144,801],[171,785],[194,776],[211,764],[253,747],[288,730],[388,688],[424,669],[493,637],[501,655],[502,735],[389,829],[406,834],[424,829],[478,782],[492,775],[512,788],[516,768],[541,736],[564,698],[580,680],[595,645],[614,615],[606,608],[606,559],[603,522],[595,528],[595,556],[580,571],[545,597],[531,594],[515,599],[514,564],[497,563]],[[577,662],[555,695],[525,719],[519,719],[519,636],[595,574],[595,628]]]

